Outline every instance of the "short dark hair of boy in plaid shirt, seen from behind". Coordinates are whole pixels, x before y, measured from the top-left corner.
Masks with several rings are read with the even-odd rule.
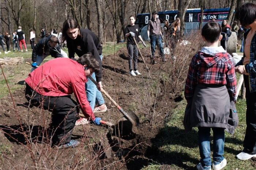
[[[202,28],[202,36],[207,42],[214,43],[221,36],[221,26],[215,21],[206,23]]]

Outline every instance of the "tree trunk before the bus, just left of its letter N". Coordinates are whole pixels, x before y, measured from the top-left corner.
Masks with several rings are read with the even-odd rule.
[[[180,18],[180,32],[183,33],[184,29],[185,29],[185,22],[184,22],[184,18],[185,18],[185,13],[188,9],[188,5],[190,3],[191,0],[179,0],[178,3],[178,17]]]

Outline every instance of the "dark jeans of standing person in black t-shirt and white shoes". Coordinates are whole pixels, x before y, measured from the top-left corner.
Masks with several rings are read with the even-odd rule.
[[[132,70],[132,61],[133,61],[133,67],[135,70],[137,70],[138,66],[138,48],[134,44],[127,44],[127,50],[129,55],[129,69]]]

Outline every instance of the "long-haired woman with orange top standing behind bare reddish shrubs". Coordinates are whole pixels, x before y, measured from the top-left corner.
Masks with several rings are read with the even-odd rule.
[[[174,51],[179,39],[180,39],[180,18],[176,18],[170,26],[170,43],[172,47],[173,59],[176,59],[176,57],[174,56]]]

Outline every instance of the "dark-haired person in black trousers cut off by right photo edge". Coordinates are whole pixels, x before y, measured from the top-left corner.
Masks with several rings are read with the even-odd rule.
[[[246,89],[246,131],[244,150],[236,157],[247,160],[256,157],[256,4],[246,3],[236,12],[236,18],[245,28],[244,57],[236,64],[235,71],[244,76]]]

